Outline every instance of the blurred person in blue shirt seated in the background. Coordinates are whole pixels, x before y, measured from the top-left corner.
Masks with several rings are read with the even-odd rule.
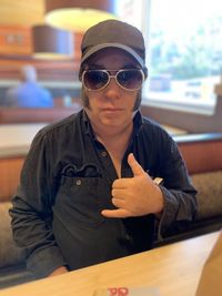
[[[26,64],[20,70],[21,83],[7,90],[3,105],[9,108],[52,108],[51,93],[37,82],[33,65]]]

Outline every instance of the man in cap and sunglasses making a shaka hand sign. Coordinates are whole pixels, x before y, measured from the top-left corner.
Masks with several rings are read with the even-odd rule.
[[[108,20],[81,50],[83,110],[38,133],[11,210],[14,239],[40,277],[150,249],[157,221],[161,237],[195,212],[175,143],[139,111],[141,32]]]

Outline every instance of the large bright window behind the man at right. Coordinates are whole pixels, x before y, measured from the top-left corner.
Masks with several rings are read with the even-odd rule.
[[[222,2],[121,2],[128,8],[123,19],[141,29],[148,43],[143,103],[212,114],[222,71]]]

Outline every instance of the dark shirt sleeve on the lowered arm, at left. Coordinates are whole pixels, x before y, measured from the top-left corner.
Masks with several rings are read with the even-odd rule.
[[[46,152],[46,139],[40,132],[28,153],[10,210],[13,238],[26,249],[27,266],[38,278],[67,265],[51,227],[53,176]]]

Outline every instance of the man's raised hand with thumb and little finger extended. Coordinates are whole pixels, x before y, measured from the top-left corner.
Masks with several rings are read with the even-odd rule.
[[[163,195],[160,187],[145,173],[131,153],[128,163],[133,177],[118,178],[112,184],[112,203],[117,210],[103,210],[105,217],[159,215],[163,210]]]

